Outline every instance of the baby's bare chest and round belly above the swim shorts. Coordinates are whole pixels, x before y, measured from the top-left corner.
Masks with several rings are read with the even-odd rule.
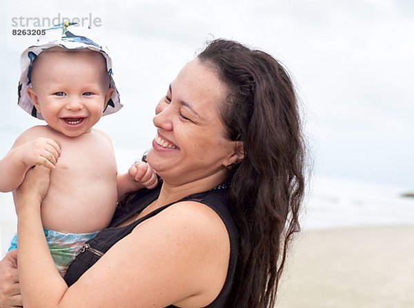
[[[112,145],[106,138],[76,142],[62,138],[59,143],[61,156],[50,173],[48,195],[42,203],[43,225],[70,232],[74,225],[80,226],[76,232],[105,227],[117,201],[117,164]]]

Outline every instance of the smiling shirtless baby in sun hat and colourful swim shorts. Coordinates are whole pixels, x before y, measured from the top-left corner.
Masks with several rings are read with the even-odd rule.
[[[108,226],[123,194],[157,185],[146,163],[117,175],[109,136],[92,128],[122,105],[112,61],[90,31],[68,23],[50,28],[23,52],[18,103],[47,125],[23,132],[0,161],[1,192],[19,187],[34,165],[52,170],[41,218],[62,276],[83,243]]]

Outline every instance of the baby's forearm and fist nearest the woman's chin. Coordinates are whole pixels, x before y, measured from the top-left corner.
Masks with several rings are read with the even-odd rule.
[[[136,162],[130,167],[128,173],[117,176],[118,199],[128,192],[134,192],[144,187],[154,188],[157,183],[157,174],[148,163]]]

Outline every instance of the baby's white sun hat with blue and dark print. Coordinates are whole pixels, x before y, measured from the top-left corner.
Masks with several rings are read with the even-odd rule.
[[[28,96],[28,88],[32,88],[32,82],[30,75],[32,73],[32,63],[44,50],[49,48],[61,47],[68,50],[81,50],[89,49],[96,52],[100,52],[106,59],[106,70],[110,76],[110,88],[114,89],[114,92],[103,111],[103,116],[112,114],[121,109],[122,104],[119,101],[119,93],[115,82],[112,79],[112,60],[109,57],[106,46],[99,43],[96,39],[93,30],[90,28],[81,27],[78,23],[61,23],[52,28],[44,30],[44,34],[37,39],[37,44],[27,48],[20,57],[21,65],[21,76],[19,79],[18,96],[19,99],[17,104],[23,108],[26,112],[36,117],[37,119],[43,120],[43,116],[37,112],[34,107],[32,100]]]

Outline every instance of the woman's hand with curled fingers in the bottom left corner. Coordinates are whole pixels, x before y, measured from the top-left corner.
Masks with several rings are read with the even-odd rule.
[[[0,261],[0,308],[6,307],[23,307],[17,273],[16,249],[9,251]]]

